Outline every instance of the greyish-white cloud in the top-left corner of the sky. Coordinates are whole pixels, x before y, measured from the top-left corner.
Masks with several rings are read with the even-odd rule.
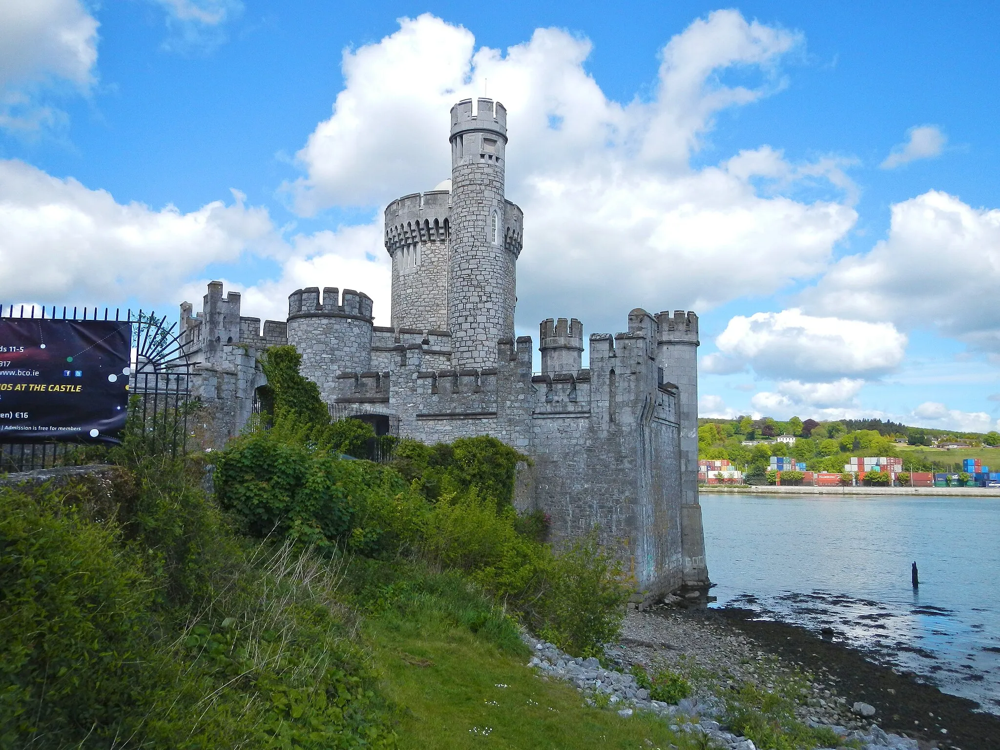
[[[0,2],[0,127],[33,131],[63,118],[42,91],[90,90],[97,27],[79,0]]]

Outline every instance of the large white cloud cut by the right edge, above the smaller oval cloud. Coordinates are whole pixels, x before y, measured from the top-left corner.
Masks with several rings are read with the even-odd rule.
[[[1000,352],[1000,210],[929,191],[892,207],[889,235],[801,295],[809,312],[926,328]]]

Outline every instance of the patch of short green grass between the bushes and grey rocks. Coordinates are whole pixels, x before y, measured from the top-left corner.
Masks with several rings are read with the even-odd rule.
[[[458,585],[425,578],[365,625],[382,692],[401,707],[401,748],[702,747],[661,718],[588,707],[570,684],[537,675],[513,622],[495,608],[484,617],[474,590],[448,583]]]

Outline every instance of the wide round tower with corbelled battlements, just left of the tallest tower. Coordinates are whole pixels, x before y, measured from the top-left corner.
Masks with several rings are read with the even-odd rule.
[[[404,195],[385,209],[394,328],[448,329],[449,193]]]

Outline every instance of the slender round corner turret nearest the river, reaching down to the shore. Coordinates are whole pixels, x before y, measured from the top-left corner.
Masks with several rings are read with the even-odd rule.
[[[684,583],[708,585],[705,536],[698,504],[698,316],[675,310],[656,316],[656,361],[678,388],[681,424],[681,550]]]

